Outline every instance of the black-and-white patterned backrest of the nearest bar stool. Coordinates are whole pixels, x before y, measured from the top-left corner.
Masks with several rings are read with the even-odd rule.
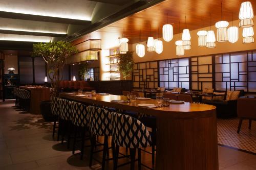
[[[114,142],[125,148],[146,148],[152,145],[150,132],[136,118],[112,112]]]

